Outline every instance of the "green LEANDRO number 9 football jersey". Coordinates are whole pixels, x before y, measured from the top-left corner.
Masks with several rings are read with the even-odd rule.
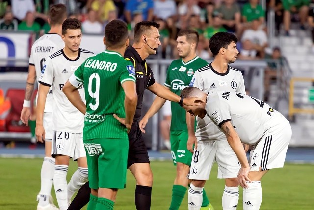
[[[119,53],[105,50],[88,58],[74,75],[78,82],[84,83],[85,89],[83,139],[128,138],[126,127],[113,114],[125,118],[121,85],[125,81],[136,82],[133,64]]]

